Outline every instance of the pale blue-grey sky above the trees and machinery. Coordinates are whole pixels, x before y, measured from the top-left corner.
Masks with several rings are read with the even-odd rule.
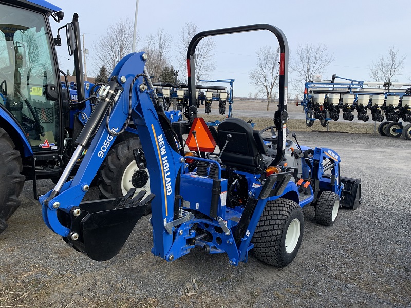
[[[87,75],[98,72],[92,43],[104,37],[108,26],[119,18],[134,20],[136,0],[121,2],[50,0],[65,13],[62,24],[50,21],[54,36],[57,28],[70,22],[73,13],[79,14],[80,31],[85,34],[85,48],[89,50]],[[144,37],[163,28],[178,41],[179,29],[188,21],[200,31],[266,23],[281,29],[287,37],[291,57],[299,44],[325,44],[334,62],[326,68],[323,79],[332,74],[355,80],[370,80],[368,66],[379,56],[387,54],[391,46],[407,55],[411,50],[409,37],[411,2],[404,1],[147,1],[139,0],[137,29],[142,40],[136,51],[142,51]],[[133,29],[130,29],[133,31]],[[62,36],[62,38],[65,37]],[[61,69],[74,64],[69,60],[65,40],[57,47]],[[247,96],[257,89],[250,84],[248,73],[256,63],[255,52],[263,46],[277,47],[276,37],[268,31],[256,31],[215,37],[215,70],[209,79],[235,79],[234,94]],[[83,42],[82,42],[83,43]],[[172,46],[171,64],[177,48]],[[411,55],[407,56],[398,81],[411,80]],[[291,72],[290,80],[296,78]],[[292,89],[292,86],[289,86]]]

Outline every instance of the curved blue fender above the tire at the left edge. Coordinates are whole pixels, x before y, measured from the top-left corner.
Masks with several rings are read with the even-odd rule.
[[[33,151],[22,126],[18,124],[14,117],[10,115],[10,112],[4,108],[0,108],[0,126],[12,138],[15,146],[21,151],[23,156],[33,156]]]

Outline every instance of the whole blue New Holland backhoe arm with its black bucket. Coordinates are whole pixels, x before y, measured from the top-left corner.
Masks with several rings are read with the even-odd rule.
[[[133,118],[139,131],[147,160],[147,168],[150,172],[150,181],[153,183],[151,192],[156,196],[153,201],[151,199],[154,196],[146,198],[150,199],[147,202],[151,201],[153,208],[152,220],[155,243],[153,253],[164,257],[173,242],[173,236],[165,231],[164,224],[173,219],[175,179],[183,160],[179,153],[173,149],[176,148],[176,141],[173,137],[170,137],[170,131],[163,129],[161,121],[159,121],[159,116],[163,117],[163,115],[161,114],[162,111],[159,108],[156,110],[154,106],[155,102],[151,98],[152,90],[147,90],[146,85],[143,83],[144,78],[147,77],[143,73],[146,59],[147,55],[143,52],[132,53],[125,56],[117,64],[110,77],[109,88],[107,89],[107,86],[102,87],[100,101],[76,140],[78,147],[62,178],[52,191],[40,198],[43,207],[43,219],[46,225],[55,233],[63,236],[69,245],[88,254],[90,258],[95,260],[107,260],[117,252],[109,255],[101,252],[103,256],[96,256],[91,249],[87,249],[87,245],[94,245],[94,251],[103,249],[106,238],[98,237],[100,235],[101,237],[110,237],[113,234],[114,238],[110,246],[107,246],[111,248],[111,246],[116,245],[116,237],[119,236],[119,233],[125,232],[123,230],[124,224],[116,224],[115,219],[119,217],[128,219],[129,216],[138,216],[129,229],[129,232],[131,232],[142,215],[142,210],[138,210],[138,215],[130,214],[129,211],[132,210],[132,207],[127,209],[122,208],[124,205],[122,203],[120,205],[118,203],[115,205],[110,204],[110,199],[108,201],[98,200],[80,203],[111,145],[113,145],[116,133],[121,131],[130,118]],[[131,106],[131,112],[129,112],[129,106]],[[110,132],[108,132],[106,125],[110,128]],[[73,180],[66,182],[72,166],[85,149],[87,149],[87,153],[76,176]],[[96,213],[97,211],[98,213]],[[105,220],[105,225],[101,223],[101,219]],[[96,227],[96,225],[98,226]],[[106,225],[109,226],[106,227]],[[107,231],[105,234],[104,227],[109,229],[113,228],[113,225],[115,225],[114,227],[118,226],[119,230],[111,229],[111,232]],[[101,248],[96,247],[97,242],[102,245]],[[107,247],[105,249],[108,249]]]

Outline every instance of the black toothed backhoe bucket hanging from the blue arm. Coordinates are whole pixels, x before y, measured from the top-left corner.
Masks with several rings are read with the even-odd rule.
[[[71,209],[70,233],[63,237],[64,241],[96,261],[116,256],[155,197],[150,194],[140,202],[145,191],[131,199],[134,191],[130,190],[122,198],[82,202],[78,216],[74,216],[78,208]],[[70,220],[66,217],[66,221]]]

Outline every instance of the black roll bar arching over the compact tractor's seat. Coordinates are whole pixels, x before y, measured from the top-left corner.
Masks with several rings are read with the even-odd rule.
[[[250,32],[258,30],[268,30],[272,32],[279,43],[279,95],[278,95],[278,110],[274,113],[274,125],[277,129],[277,155],[275,156],[273,165],[277,165],[284,157],[285,152],[285,137],[287,127],[287,88],[288,88],[288,43],[283,31],[268,24],[256,24],[248,26],[240,26],[225,29],[209,30],[197,33],[189,44],[187,50],[187,76],[189,82],[189,122],[192,123],[197,114],[195,105],[195,49],[198,43],[208,36],[216,36],[222,34],[233,34],[241,32]]]

